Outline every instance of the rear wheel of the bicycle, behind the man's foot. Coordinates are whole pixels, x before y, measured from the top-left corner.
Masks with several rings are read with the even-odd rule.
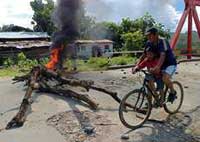
[[[179,111],[183,104],[183,98],[184,98],[184,91],[181,83],[178,81],[173,82],[174,89],[176,90],[176,97],[173,102],[166,102],[164,104],[164,109],[169,114],[174,114]],[[167,100],[169,96],[169,89],[167,88],[165,91],[165,100]]]

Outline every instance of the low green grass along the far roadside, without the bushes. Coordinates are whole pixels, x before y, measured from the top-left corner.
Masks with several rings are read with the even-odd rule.
[[[97,71],[97,70],[106,70],[109,66],[113,65],[127,65],[127,64],[134,64],[136,61],[136,58],[129,57],[129,56],[119,56],[119,57],[113,57],[113,58],[90,58],[87,61],[84,60],[77,60],[77,69],[78,71]],[[37,63],[30,62],[27,60],[27,62],[24,62],[23,60],[23,66],[7,66],[4,69],[0,69],[0,77],[13,77],[17,75],[21,75],[24,72],[20,71],[22,69],[27,70],[30,69],[30,66],[37,65]],[[32,64],[34,63],[34,64]],[[26,65],[27,64],[27,65]],[[72,70],[72,61],[68,60],[64,63],[64,67],[67,67],[68,70]]]

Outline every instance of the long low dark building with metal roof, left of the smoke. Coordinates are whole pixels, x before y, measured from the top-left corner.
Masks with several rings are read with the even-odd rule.
[[[0,59],[23,52],[28,58],[49,56],[50,37],[41,32],[0,32]]]

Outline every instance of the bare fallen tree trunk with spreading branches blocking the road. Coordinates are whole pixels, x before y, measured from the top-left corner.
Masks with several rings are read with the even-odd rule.
[[[117,96],[116,92],[112,92],[105,88],[95,86],[94,82],[91,80],[79,80],[73,77],[67,78],[57,72],[48,70],[42,66],[34,67],[30,73],[21,77],[15,77],[13,81],[14,83],[25,81],[25,86],[27,86],[27,90],[21,103],[19,112],[7,124],[6,129],[23,126],[26,120],[28,108],[31,105],[30,98],[34,90],[38,90],[39,92],[52,93],[64,97],[72,97],[88,104],[91,109],[95,110],[98,108],[98,103],[90,98],[89,95],[77,93],[70,89],[69,86],[83,87],[87,91],[89,91],[89,89],[100,91],[110,95],[118,103],[121,102],[121,99]]]

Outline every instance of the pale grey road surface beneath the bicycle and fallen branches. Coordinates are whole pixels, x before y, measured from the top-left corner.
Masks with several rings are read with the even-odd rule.
[[[183,63],[179,65],[175,80],[184,86],[185,98],[181,113],[168,116],[163,109],[152,113],[151,119],[144,127],[131,131],[125,128],[118,117],[119,104],[103,93],[90,91],[88,94],[100,104],[95,112],[106,116],[113,124],[105,136],[96,136],[97,142],[185,142],[198,141],[200,136],[200,63]],[[130,69],[103,72],[79,73],[76,77],[92,79],[95,83],[115,90],[121,97],[128,91],[140,86],[137,75],[131,75]],[[0,79],[0,128],[5,127],[18,111],[24,96],[23,84],[11,84],[10,78]],[[66,142],[67,139],[54,127],[47,125],[51,116],[78,109],[89,110],[78,101],[64,99],[51,94],[33,94],[33,104],[25,125],[21,128],[0,132],[0,142]],[[160,123],[162,122],[162,123]],[[128,140],[121,136],[127,134]]]

